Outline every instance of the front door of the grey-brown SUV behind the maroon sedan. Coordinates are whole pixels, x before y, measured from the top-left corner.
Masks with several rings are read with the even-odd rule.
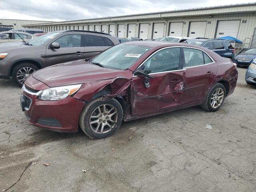
[[[79,60],[84,58],[83,33],[70,33],[58,37],[46,47],[46,65]],[[59,49],[51,49],[53,42],[60,44]]]

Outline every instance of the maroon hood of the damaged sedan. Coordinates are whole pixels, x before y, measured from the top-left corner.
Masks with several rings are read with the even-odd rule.
[[[50,87],[56,87],[111,79],[115,78],[118,72],[77,60],[38,70],[32,76]]]

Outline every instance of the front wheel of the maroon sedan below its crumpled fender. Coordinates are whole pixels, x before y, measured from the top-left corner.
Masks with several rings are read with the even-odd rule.
[[[107,120],[106,119],[107,117],[105,116],[105,114],[103,114],[104,105],[106,106],[106,108],[108,108],[108,107],[111,108],[111,106],[114,107],[114,109],[113,109],[114,111],[112,110],[110,112],[111,113],[116,112],[116,114],[117,114],[115,116],[113,115],[115,118],[114,120],[116,121],[115,124],[109,121],[109,120],[113,120],[112,116],[109,117],[110,119],[108,118],[108,120]],[[98,110],[99,106],[100,106],[100,110],[101,110],[100,112]],[[107,110],[109,110],[109,109],[107,109]],[[110,112],[109,112],[109,114],[110,114]],[[92,118],[92,116],[99,115],[100,113],[102,113],[102,117]],[[106,115],[108,115],[108,114],[106,114]],[[101,118],[104,118],[104,119],[101,119]],[[96,98],[96,99],[92,100],[91,102],[89,102],[88,104],[86,104],[86,106],[84,107],[84,109],[82,110],[82,112],[80,114],[79,126],[82,129],[82,131],[86,135],[88,135],[90,138],[101,139],[101,138],[106,138],[106,137],[114,134],[114,132],[116,132],[116,130],[118,130],[118,128],[120,127],[120,124],[122,123],[122,119],[123,119],[123,110],[122,110],[122,106],[120,105],[120,103],[114,98],[113,99],[102,99],[100,97],[100,98]],[[98,122],[96,122],[95,124],[91,124],[90,120],[92,120],[91,123],[94,121],[98,121]],[[103,126],[103,132],[100,133],[103,122],[107,122],[113,127],[110,128],[108,125]],[[98,128],[99,130],[97,131],[97,127],[99,124],[100,124],[100,127]],[[108,131],[108,132],[106,132],[106,131]],[[104,133],[104,132],[106,132],[106,133]]]

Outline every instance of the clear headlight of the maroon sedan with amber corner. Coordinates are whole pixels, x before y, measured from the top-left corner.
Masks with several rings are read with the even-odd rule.
[[[56,101],[56,100],[62,100],[75,92],[78,91],[78,89],[81,87],[82,84],[76,84],[76,85],[68,85],[68,86],[61,86],[61,87],[52,87],[43,90],[39,96],[38,99],[40,100],[48,100],[48,101]]]

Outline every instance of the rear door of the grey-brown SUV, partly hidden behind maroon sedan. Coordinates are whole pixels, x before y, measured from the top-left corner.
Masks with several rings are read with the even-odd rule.
[[[90,58],[110,46],[105,42],[104,38],[99,35],[84,35],[84,58]]]

